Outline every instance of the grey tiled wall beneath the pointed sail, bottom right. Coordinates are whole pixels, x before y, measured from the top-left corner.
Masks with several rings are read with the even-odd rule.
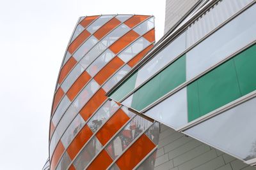
[[[154,169],[256,170],[256,167],[161,125]]]

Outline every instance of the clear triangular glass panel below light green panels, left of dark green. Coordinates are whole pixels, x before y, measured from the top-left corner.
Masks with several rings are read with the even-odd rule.
[[[187,92],[184,88],[148,110],[145,115],[177,129],[188,123],[186,106]]]

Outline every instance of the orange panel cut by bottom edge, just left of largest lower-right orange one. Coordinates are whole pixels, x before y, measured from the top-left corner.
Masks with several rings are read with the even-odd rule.
[[[109,157],[106,150],[102,150],[95,160],[90,164],[87,169],[107,169],[107,167],[113,162],[111,157]]]

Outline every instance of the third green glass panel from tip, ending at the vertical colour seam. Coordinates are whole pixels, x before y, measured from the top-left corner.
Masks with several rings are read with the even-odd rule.
[[[180,57],[172,65],[166,67],[159,73],[159,76],[161,77],[159,96],[164,96],[186,81],[186,56]]]

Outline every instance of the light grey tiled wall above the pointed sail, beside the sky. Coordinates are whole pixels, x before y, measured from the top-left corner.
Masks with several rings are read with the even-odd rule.
[[[166,0],[164,33],[166,33],[198,0]]]

